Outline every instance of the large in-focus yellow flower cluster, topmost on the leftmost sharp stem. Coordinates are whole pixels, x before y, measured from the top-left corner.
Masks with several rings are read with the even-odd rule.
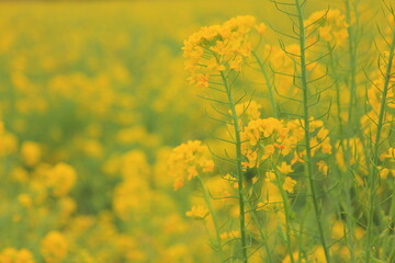
[[[253,16],[236,16],[222,25],[204,26],[192,34],[182,47],[190,83],[208,87],[213,73],[227,68],[240,71],[251,54],[248,35],[255,25]],[[257,31],[263,33],[263,25],[259,25]]]

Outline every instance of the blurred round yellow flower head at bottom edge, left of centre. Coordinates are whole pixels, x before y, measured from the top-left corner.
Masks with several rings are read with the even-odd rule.
[[[41,253],[47,263],[61,262],[68,252],[68,242],[58,231],[48,232],[41,244]]]

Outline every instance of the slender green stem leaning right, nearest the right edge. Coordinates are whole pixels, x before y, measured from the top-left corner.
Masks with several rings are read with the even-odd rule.
[[[395,30],[393,32],[393,39],[390,47],[390,56],[388,56],[388,64],[386,66],[385,70],[385,77],[384,77],[384,87],[382,91],[382,98],[380,102],[380,112],[379,112],[379,119],[377,119],[377,127],[376,127],[376,134],[374,138],[374,146],[373,146],[373,152],[372,152],[372,165],[369,176],[369,186],[370,186],[370,193],[369,193],[369,219],[368,219],[368,228],[366,228],[366,254],[365,254],[365,262],[370,262],[370,254],[371,254],[371,247],[372,247],[372,227],[373,227],[373,216],[374,216],[374,194],[377,187],[377,181],[379,181],[379,147],[381,142],[381,133],[383,128],[384,123],[384,116],[385,116],[385,107],[386,107],[386,96],[387,92],[390,90],[390,80],[391,80],[391,70],[394,59],[394,49],[395,49]]]

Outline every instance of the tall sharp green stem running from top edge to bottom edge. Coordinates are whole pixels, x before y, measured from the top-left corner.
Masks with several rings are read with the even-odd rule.
[[[319,215],[319,207],[318,207],[318,197],[317,191],[314,181],[313,174],[313,158],[312,158],[312,149],[311,149],[311,134],[309,134],[309,113],[308,113],[308,81],[307,81],[307,71],[306,71],[306,46],[305,46],[305,27],[303,22],[303,10],[300,0],[295,0],[296,10],[297,10],[297,19],[298,19],[298,39],[300,39],[300,48],[301,48],[301,81],[302,81],[302,89],[303,89],[303,115],[304,115],[304,129],[305,129],[305,145],[306,145],[306,161],[305,161],[305,169],[308,178],[309,190],[312,193],[313,206],[314,206],[314,214],[318,226],[319,231],[319,239],[324,248],[325,258],[327,263],[330,263],[330,254],[329,249],[327,247],[325,240],[324,228],[321,224],[321,218]]]

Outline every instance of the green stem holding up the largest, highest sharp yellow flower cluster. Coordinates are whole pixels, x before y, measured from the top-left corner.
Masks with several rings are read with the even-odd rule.
[[[236,112],[236,103],[232,93],[230,85],[225,77],[224,71],[221,71],[221,77],[226,89],[226,95],[228,99],[232,119],[234,123],[235,132],[235,150],[236,150],[236,165],[237,165],[237,179],[238,179],[238,199],[239,199],[239,221],[240,221],[240,236],[241,236],[241,256],[242,262],[248,263],[247,254],[247,235],[246,235],[246,215],[245,215],[245,198],[244,198],[244,184],[242,184],[242,168],[241,168],[241,138],[239,128],[239,117]]]

